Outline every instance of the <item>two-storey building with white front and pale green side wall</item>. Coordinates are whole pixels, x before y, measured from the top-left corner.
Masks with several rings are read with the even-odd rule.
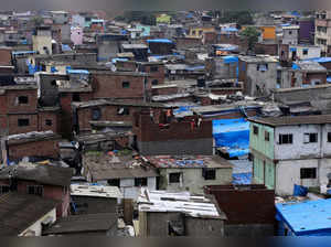
[[[319,187],[329,183],[330,115],[249,120],[255,182],[278,195],[292,194],[295,184]]]

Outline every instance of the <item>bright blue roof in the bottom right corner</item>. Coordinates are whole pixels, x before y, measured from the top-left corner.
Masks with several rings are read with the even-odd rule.
[[[285,222],[297,236],[331,236],[331,198],[276,204],[276,218]]]

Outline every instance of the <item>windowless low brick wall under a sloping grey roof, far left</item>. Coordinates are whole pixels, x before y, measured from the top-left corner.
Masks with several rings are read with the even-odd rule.
[[[8,144],[10,160],[19,160],[23,157],[58,157],[58,139],[36,140],[24,143]]]

